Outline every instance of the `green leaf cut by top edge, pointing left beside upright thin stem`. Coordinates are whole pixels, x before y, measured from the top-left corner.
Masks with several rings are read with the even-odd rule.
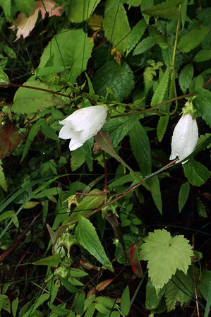
[[[152,6],[152,8],[147,8],[142,12],[148,14],[149,16],[157,16],[159,18],[168,18],[169,16],[174,16],[176,12],[176,6],[180,4],[183,0],[168,0],[158,4],[157,6]]]

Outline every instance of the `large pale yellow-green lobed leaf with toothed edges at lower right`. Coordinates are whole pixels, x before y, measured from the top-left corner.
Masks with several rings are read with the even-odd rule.
[[[155,230],[145,238],[140,258],[147,260],[147,268],[155,289],[166,284],[176,270],[187,273],[193,251],[188,240],[182,235],[171,237],[167,230]]]

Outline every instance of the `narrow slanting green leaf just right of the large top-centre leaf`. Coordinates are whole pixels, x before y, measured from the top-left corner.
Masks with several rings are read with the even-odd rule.
[[[128,55],[132,51],[133,47],[135,47],[135,45],[140,41],[146,27],[147,24],[145,23],[144,19],[138,21],[138,23],[134,26],[133,30],[128,36],[126,55]]]

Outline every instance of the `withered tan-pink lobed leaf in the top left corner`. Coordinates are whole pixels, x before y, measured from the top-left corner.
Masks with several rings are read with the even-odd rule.
[[[55,5],[56,3],[52,0],[39,0],[35,2],[33,11],[29,17],[25,16],[24,13],[20,12],[18,14],[16,24],[10,27],[12,30],[18,29],[16,34],[16,41],[20,39],[21,35],[23,35],[23,38],[28,37],[31,30],[35,28],[35,23],[37,21],[39,11],[41,12],[42,20],[44,19],[46,13],[49,13],[49,16],[61,16],[60,11],[63,8],[63,6],[58,6],[57,8],[54,8]]]

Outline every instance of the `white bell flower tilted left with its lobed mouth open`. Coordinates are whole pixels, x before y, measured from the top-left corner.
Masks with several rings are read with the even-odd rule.
[[[78,109],[66,119],[59,121],[64,126],[59,132],[59,138],[71,138],[71,151],[80,148],[86,140],[95,136],[104,125],[107,118],[107,107],[92,106]]]

